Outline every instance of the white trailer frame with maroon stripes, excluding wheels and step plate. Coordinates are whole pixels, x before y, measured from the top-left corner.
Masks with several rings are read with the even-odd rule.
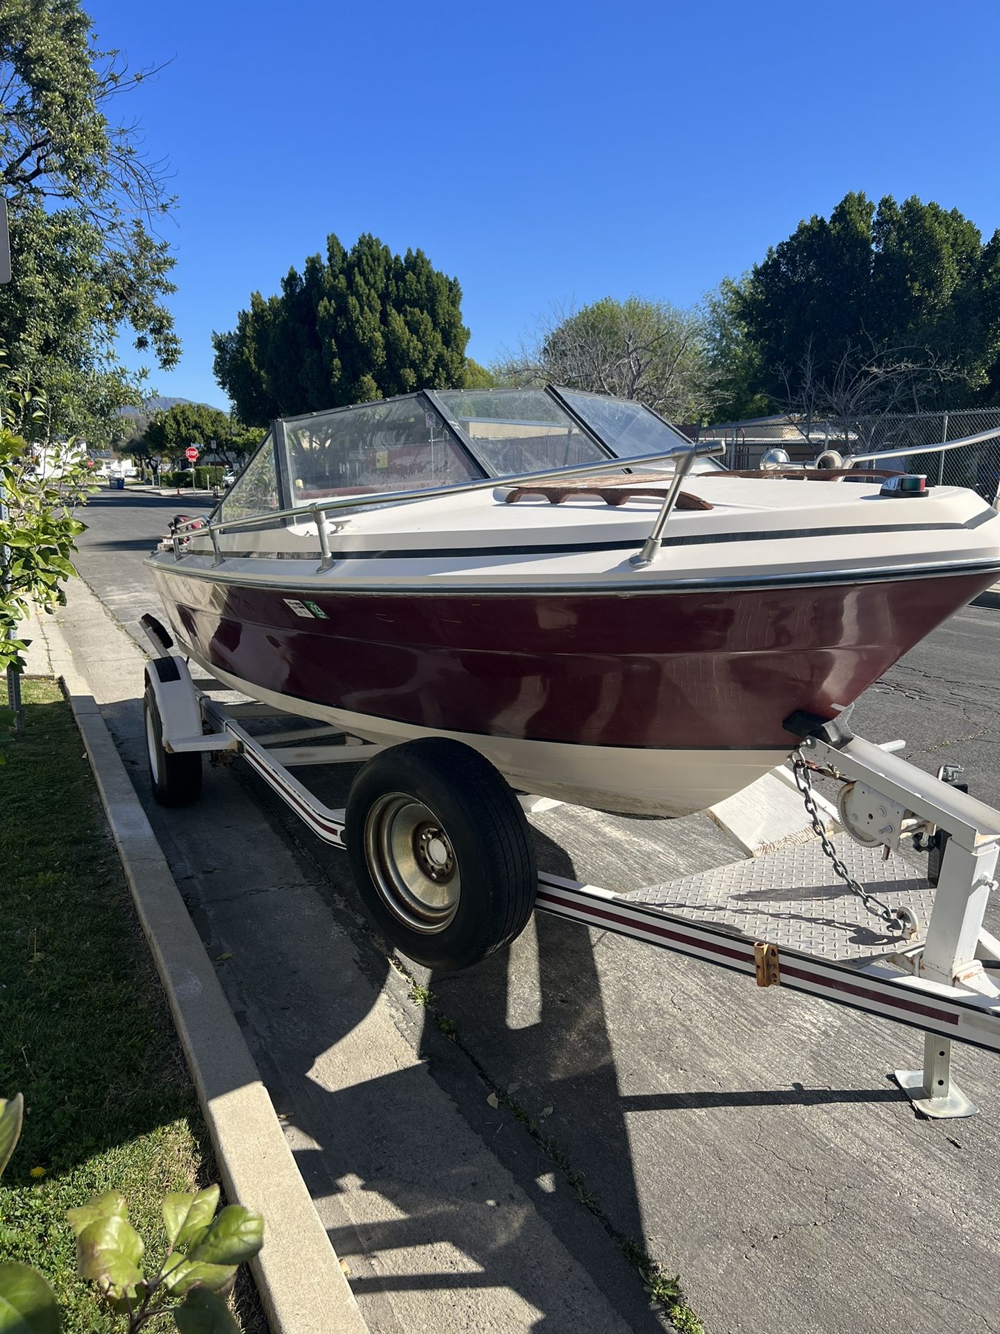
[[[171,652],[163,627],[153,618],[143,618],[143,626],[161,655],[147,666],[147,683],[160,715],[164,751],[243,756],[317,838],[343,848],[344,810],[325,806],[291,770],[359,763],[385,747],[345,738],[315,720],[295,731],[251,735],[241,720],[287,719],[295,711],[213,700],[208,690],[227,687],[192,680],[187,660]],[[801,754],[819,770],[853,784],[841,810],[865,842],[899,850],[915,826],[925,835],[947,835],[923,944],[900,942],[900,948],[852,966],[544,871],[535,907],[732,968],[753,976],[759,986],[804,991],[917,1029],[924,1033],[924,1066],[895,1071],[897,1083],[924,1115],[972,1115],[976,1107],[951,1078],[951,1046],[964,1042],[1000,1054],[1000,972],[991,975],[1000,964],[1000,940],[983,926],[989,892],[996,888],[1000,811],[863,738],[837,738],[836,728],[829,736],[805,736]],[[559,804],[531,796],[520,800],[528,811]]]

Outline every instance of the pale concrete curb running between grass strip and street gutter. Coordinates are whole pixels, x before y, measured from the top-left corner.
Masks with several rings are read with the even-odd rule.
[[[368,1334],[88,682],[57,623],[45,626],[45,638],[167,992],[225,1193],[264,1214],[264,1249],[251,1267],[272,1334]]]

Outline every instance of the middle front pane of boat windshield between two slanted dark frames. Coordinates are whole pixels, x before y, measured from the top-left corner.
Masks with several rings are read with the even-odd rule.
[[[437,390],[435,398],[465,432],[488,476],[608,456],[544,390]]]

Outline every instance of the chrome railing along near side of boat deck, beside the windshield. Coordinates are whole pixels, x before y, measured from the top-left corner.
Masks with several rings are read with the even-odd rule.
[[[435,496],[453,496],[463,495],[472,491],[495,491],[497,487],[520,487],[531,482],[544,482],[556,480],[559,478],[584,478],[593,476],[595,474],[615,471],[617,468],[636,468],[644,467],[652,463],[667,463],[672,459],[680,459],[681,463],[677,466],[675,474],[676,476],[685,476],[697,458],[709,458],[721,454],[724,444],[719,440],[703,440],[700,443],[693,442],[689,448],[679,448],[675,446],[671,450],[664,450],[661,454],[640,454],[628,459],[601,459],[599,463],[575,463],[565,468],[545,468],[539,472],[525,472],[517,476],[507,478],[477,478],[475,482],[456,482],[451,486],[437,486],[437,487],[424,487],[421,490],[413,491],[379,491],[367,492],[364,495],[353,496],[331,496],[329,500],[319,500],[316,504],[305,506],[291,506],[287,510],[269,510],[265,514],[247,515],[243,519],[221,519],[217,523],[209,523],[205,526],[204,519],[188,519],[187,523],[179,524],[173,534],[173,555],[180,559],[183,555],[180,550],[181,542],[188,536],[201,536],[207,535],[212,542],[212,551],[215,552],[215,563],[219,564],[225,559],[224,552],[219,546],[219,536],[224,532],[240,532],[245,530],[261,528],[272,523],[279,523],[284,519],[304,519],[309,518],[316,524],[316,531],[320,540],[320,570],[327,570],[336,559],[329,550],[329,530],[325,523],[325,516],[328,514],[337,514],[344,510],[360,510],[371,506],[392,506],[392,504],[408,504],[416,500],[429,500]],[[623,482],[625,478],[623,476]],[[676,500],[676,494],[679,491],[679,483],[671,487],[664,504],[657,515],[656,524],[653,526],[653,532],[661,532],[663,524],[669,516],[673,502]],[[336,530],[335,530],[336,531]]]

